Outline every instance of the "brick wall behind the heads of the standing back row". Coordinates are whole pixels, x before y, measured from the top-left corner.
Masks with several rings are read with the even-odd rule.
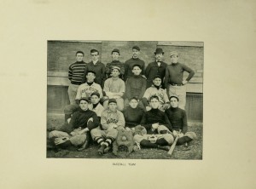
[[[203,47],[195,43],[187,43],[189,46],[184,46],[186,43],[178,42],[173,45],[170,43],[163,44],[162,42],[125,42],[125,41],[100,41],[100,42],[62,42],[62,41],[49,41],[48,42],[48,71],[49,72],[67,72],[68,66],[75,62],[75,53],[78,50],[84,52],[84,61],[90,61],[90,49],[98,49],[100,51],[100,60],[102,63],[107,64],[111,59],[111,51],[113,49],[120,50],[119,60],[131,59],[131,48],[138,45],[141,48],[140,58],[145,61],[146,66],[148,63],[154,61],[154,50],[159,47],[165,52],[164,60],[167,64],[171,63],[170,52],[176,50],[180,54],[179,61],[186,64],[195,70],[195,77],[191,82],[196,81],[202,83],[203,78]],[[184,77],[188,74],[184,72]]]

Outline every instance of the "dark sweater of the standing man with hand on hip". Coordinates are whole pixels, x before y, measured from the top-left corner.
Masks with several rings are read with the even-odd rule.
[[[185,66],[180,63],[176,64],[171,64],[166,67],[166,77],[165,77],[165,82],[166,84],[168,83],[173,83],[173,84],[182,84],[183,83],[183,72],[189,72],[189,76],[186,79],[189,81],[195,74],[195,72],[189,68],[188,66]]]

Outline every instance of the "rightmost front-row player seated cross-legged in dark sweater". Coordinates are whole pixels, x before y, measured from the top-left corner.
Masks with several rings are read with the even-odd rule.
[[[186,142],[196,139],[195,132],[188,132],[188,123],[186,112],[178,107],[177,96],[171,96],[171,107],[166,110],[166,117],[171,123],[171,129],[174,136],[177,136],[179,129],[181,134],[177,139],[177,145],[183,145]]]

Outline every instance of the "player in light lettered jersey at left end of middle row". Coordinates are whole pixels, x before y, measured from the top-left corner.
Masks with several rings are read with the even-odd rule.
[[[88,71],[86,73],[86,79],[87,82],[83,83],[79,86],[77,95],[76,95],[76,104],[75,105],[67,105],[64,108],[64,113],[65,113],[65,121],[67,121],[68,118],[71,117],[73,112],[76,112],[79,109],[79,100],[83,97],[90,97],[90,94],[93,92],[97,92],[100,94],[100,98],[102,98],[102,88],[101,85],[94,83],[94,79],[96,77],[96,72],[94,71]],[[91,109],[91,107],[89,106]]]

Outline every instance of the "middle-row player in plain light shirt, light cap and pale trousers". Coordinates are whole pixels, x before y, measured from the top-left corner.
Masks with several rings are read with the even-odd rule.
[[[119,111],[124,110],[124,99],[122,96],[125,93],[125,82],[119,78],[120,68],[118,66],[113,66],[111,68],[111,76],[104,83],[103,91],[108,96],[109,99],[115,99],[117,101],[117,109]],[[108,100],[103,102],[105,109],[108,108]]]

